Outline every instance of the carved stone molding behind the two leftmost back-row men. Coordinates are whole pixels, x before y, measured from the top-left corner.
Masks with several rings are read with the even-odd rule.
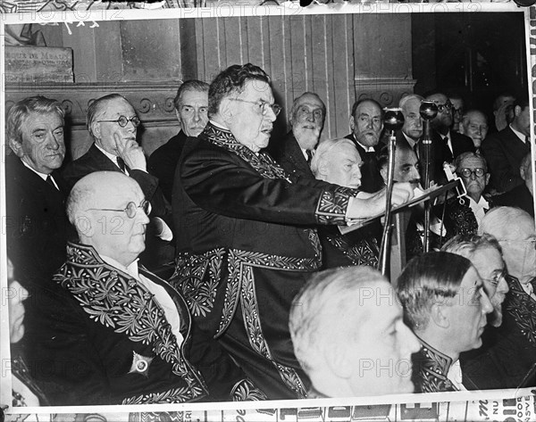
[[[147,128],[177,125],[173,98],[180,81],[116,83],[116,84],[9,84],[5,92],[5,108],[31,95],[55,98],[63,105],[65,116],[74,130],[86,125],[88,106],[97,98],[108,94],[121,94],[138,112]]]

